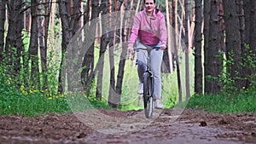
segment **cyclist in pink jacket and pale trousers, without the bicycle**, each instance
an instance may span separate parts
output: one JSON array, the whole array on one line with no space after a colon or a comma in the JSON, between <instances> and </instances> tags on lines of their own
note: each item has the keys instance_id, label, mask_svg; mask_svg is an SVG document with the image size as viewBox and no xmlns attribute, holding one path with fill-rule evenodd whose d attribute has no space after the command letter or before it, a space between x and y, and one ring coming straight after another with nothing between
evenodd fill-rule
<instances>
[{"instance_id":1,"label":"cyclist in pink jacket and pale trousers, without the bicycle","mask_svg":"<svg viewBox=\"0 0 256 144\"><path fill-rule=\"evenodd\" d=\"M154 99L155 108L163 108L161 101L161 77L160 67L163 58L163 49L166 49L167 31L165 15L155 9L155 0L144 0L144 10L137 13L131 29L131 37L128 51L131 55L135 54L133 45L137 48L144 48L148 45L153 49L150 55L150 68L154 73ZM143 94L143 72L146 71L147 52L137 51L137 72L139 77L138 94Z\"/></svg>"}]
</instances>

